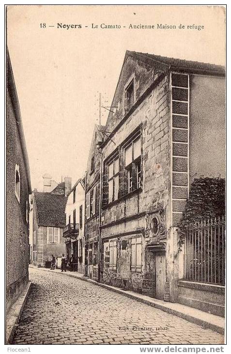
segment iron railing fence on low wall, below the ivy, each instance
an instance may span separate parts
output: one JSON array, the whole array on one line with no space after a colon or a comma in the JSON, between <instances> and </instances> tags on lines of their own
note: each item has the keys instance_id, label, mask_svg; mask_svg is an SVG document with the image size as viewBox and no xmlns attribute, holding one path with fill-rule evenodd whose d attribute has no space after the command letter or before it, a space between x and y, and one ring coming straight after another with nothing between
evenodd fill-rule
<instances>
[{"instance_id":1,"label":"iron railing fence on low wall, below the ivy","mask_svg":"<svg viewBox=\"0 0 231 354\"><path fill-rule=\"evenodd\" d=\"M225 284L225 219L198 221L185 235L185 279Z\"/></svg>"}]
</instances>

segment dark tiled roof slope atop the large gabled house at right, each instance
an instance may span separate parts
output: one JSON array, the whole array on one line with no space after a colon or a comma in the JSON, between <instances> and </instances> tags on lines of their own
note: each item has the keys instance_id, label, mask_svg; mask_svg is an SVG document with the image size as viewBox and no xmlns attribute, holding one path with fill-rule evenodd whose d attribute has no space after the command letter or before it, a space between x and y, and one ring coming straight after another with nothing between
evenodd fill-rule
<instances>
[{"instance_id":1,"label":"dark tiled roof slope atop the large gabled house at right","mask_svg":"<svg viewBox=\"0 0 231 354\"><path fill-rule=\"evenodd\" d=\"M126 51L125 59L131 56L137 60L144 61L150 65L160 65L172 71L188 72L203 75L225 76L225 67L222 65L193 62L190 60L162 57L160 55L140 53L136 51Z\"/></svg>"}]
</instances>

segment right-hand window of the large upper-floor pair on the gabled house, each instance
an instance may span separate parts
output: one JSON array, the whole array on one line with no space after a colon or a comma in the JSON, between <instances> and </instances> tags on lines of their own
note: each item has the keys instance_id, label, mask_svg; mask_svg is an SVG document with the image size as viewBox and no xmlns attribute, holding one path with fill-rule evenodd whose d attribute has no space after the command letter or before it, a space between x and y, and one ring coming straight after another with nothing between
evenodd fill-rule
<instances>
[{"instance_id":1,"label":"right-hand window of the large upper-floor pair on the gabled house","mask_svg":"<svg viewBox=\"0 0 231 354\"><path fill-rule=\"evenodd\" d=\"M136 138L125 148L128 193L141 187L141 139Z\"/></svg>"}]
</instances>

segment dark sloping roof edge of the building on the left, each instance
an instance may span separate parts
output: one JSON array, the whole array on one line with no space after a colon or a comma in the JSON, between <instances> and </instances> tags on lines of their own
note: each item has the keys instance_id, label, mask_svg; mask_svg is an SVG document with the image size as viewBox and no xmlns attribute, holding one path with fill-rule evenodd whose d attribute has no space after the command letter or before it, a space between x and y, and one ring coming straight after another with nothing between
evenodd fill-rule
<instances>
[{"instance_id":1,"label":"dark sloping roof edge of the building on the left","mask_svg":"<svg viewBox=\"0 0 231 354\"><path fill-rule=\"evenodd\" d=\"M29 192L29 194L31 194L30 165L29 165L26 141L25 141L24 132L23 132L22 118L21 118L20 107L19 107L19 102L18 102L18 97L17 97L16 86L15 86L15 79L14 79L14 74L13 74L13 70L12 70L12 66L11 66L8 48L6 49L6 56L7 56L7 62L6 62L7 63L6 64L7 65L7 87L9 90L10 97L11 97L12 106L13 106L14 112L15 112L15 119L16 119L16 123L17 123L16 126L17 126L17 130L18 130L18 134L19 134L19 139L20 139L22 154L23 154L23 160L24 160L25 168L26 168L28 192Z\"/></svg>"}]
</instances>

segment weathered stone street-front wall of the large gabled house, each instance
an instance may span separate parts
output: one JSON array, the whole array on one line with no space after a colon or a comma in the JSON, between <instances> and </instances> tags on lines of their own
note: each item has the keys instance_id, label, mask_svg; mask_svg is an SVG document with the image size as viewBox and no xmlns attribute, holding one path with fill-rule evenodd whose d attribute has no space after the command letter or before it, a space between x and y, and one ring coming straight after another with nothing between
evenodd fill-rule
<instances>
[{"instance_id":1,"label":"weathered stone street-front wall of the large gabled house","mask_svg":"<svg viewBox=\"0 0 231 354\"><path fill-rule=\"evenodd\" d=\"M133 61L131 58L127 59L122 71L125 73L125 78L121 76L123 83L118 84L119 92L115 94L118 100L119 97L123 96L124 82L129 77L133 77L135 82L134 96L136 99L140 97L141 92L145 92L150 84L150 80L146 80L145 83L140 78L139 75L143 70L145 70L144 67L139 67L138 62ZM149 74L152 80L157 79L156 72L150 71ZM142 88L139 88L141 81ZM117 102L113 105L116 106ZM123 101L119 103L119 107L121 105L123 105ZM111 120L107 123L109 127L107 129L115 128L116 124L120 123L121 118L119 117L119 113L118 115L114 114ZM123 144L127 136L136 131L136 129L140 129L141 133L142 187L111 202L102 209L102 239L104 242L110 239L116 239L118 242L117 270L109 269L104 264L103 281L107 284L155 296L155 257L154 253L147 246L159 239L158 237L154 237L150 225L147 233L145 232L147 228L145 215L149 215L150 223L155 214L161 219L164 228L161 231L161 242L167 247L168 242L170 242L167 232L170 227L170 113L168 76L162 76L162 79L157 82L156 87L143 99L135 111L127 117L123 125L115 129L111 137L115 145L111 141L108 141L104 146L104 161L107 161L108 156L113 154L117 146ZM141 272L132 272L130 244L131 239L135 237L134 233L138 237L139 232L142 235ZM128 242L126 250L121 250L120 248L123 240L127 240ZM169 257L169 254L166 257ZM105 260L105 255L103 258ZM167 279L165 280L167 281ZM166 287L166 290L168 290L168 287Z\"/></svg>"}]
</instances>

